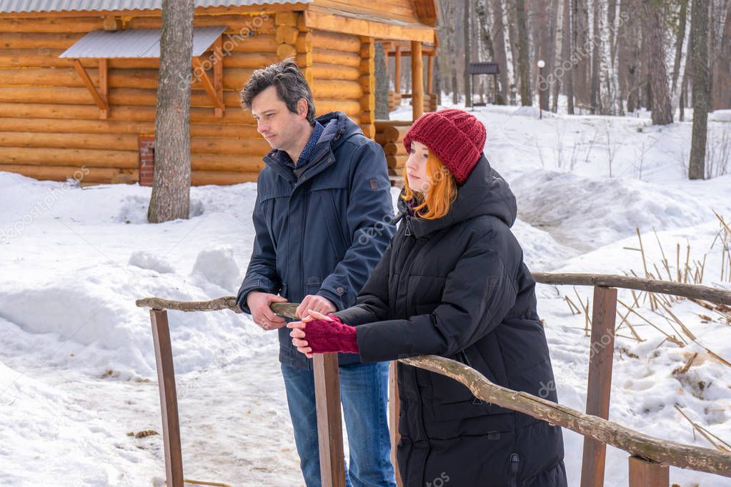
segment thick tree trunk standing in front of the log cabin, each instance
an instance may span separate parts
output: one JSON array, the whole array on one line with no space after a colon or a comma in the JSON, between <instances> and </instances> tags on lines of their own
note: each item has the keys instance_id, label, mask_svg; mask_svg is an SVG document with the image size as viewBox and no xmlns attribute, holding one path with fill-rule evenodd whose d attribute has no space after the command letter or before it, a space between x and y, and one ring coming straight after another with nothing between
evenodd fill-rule
<instances>
[{"instance_id":1,"label":"thick tree trunk standing in front of the log cabin","mask_svg":"<svg viewBox=\"0 0 731 487\"><path fill-rule=\"evenodd\" d=\"M162 1L150 223L189 218L193 0Z\"/></svg>"}]
</instances>

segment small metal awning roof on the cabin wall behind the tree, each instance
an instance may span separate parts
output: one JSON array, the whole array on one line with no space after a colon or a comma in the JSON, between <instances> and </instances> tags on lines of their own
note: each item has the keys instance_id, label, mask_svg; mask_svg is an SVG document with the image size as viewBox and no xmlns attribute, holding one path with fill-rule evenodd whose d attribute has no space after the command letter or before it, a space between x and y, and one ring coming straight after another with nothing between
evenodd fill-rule
<instances>
[{"instance_id":1,"label":"small metal awning roof on the cabin wall behind the tree","mask_svg":"<svg viewBox=\"0 0 731 487\"><path fill-rule=\"evenodd\" d=\"M205 53L226 26L194 27L193 56ZM160 29L133 28L124 31L91 31L77 40L59 58L159 58Z\"/></svg>"}]
</instances>

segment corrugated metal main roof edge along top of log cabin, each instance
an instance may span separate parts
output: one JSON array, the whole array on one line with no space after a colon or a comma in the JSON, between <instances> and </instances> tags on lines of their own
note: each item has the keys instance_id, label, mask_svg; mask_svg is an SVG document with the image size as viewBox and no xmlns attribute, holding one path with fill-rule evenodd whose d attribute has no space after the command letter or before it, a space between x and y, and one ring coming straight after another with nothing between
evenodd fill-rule
<instances>
[{"instance_id":1,"label":"corrugated metal main roof edge along top of log cabin","mask_svg":"<svg viewBox=\"0 0 731 487\"><path fill-rule=\"evenodd\" d=\"M312 0L194 0L196 7L308 4ZM0 0L0 13L162 9L162 0Z\"/></svg>"}]
</instances>

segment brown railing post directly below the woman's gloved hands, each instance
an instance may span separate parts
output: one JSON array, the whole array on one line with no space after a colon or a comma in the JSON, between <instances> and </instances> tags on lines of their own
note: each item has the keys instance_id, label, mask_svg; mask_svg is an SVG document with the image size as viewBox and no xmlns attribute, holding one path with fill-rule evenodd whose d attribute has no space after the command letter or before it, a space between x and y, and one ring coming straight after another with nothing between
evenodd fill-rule
<instances>
[{"instance_id":1,"label":"brown railing post directly below the woman's gloved hands","mask_svg":"<svg viewBox=\"0 0 731 487\"><path fill-rule=\"evenodd\" d=\"M345 487L338 354L315 353L313 361L322 487Z\"/></svg>"}]
</instances>

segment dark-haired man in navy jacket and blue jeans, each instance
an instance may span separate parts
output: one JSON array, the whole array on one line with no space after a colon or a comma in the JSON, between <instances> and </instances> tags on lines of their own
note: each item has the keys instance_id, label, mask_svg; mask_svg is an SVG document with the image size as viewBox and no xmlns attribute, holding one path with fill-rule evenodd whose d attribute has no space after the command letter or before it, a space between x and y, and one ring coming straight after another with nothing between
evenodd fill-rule
<instances>
[{"instance_id":1,"label":"dark-haired man in navy jacket and blue jeans","mask_svg":"<svg viewBox=\"0 0 731 487\"><path fill-rule=\"evenodd\" d=\"M355 304L394 233L383 150L342 112L315 119L312 93L294 61L257 69L241 91L272 150L257 182L254 250L238 305L262 329L279 330L279 361L308 487L319 487L312 361L292 347L273 302L297 315ZM395 486L387 428L387 363L341 353L341 401L349 440L346 485Z\"/></svg>"}]
</instances>

